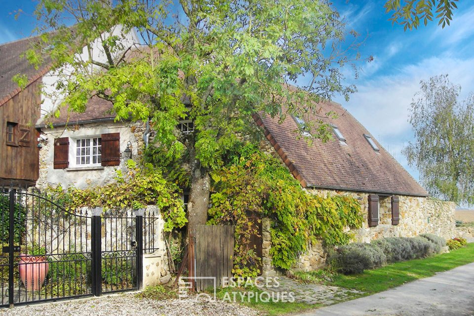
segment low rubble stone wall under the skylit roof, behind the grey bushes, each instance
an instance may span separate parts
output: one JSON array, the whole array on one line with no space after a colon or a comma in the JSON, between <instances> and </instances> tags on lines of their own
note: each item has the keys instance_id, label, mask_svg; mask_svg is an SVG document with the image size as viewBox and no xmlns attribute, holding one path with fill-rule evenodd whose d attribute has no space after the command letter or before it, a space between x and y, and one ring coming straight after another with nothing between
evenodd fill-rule
<instances>
[{"instance_id":1,"label":"low rubble stone wall under the skylit roof, behind the grey bushes","mask_svg":"<svg viewBox=\"0 0 474 316\"><path fill-rule=\"evenodd\" d=\"M354 233L355 242L370 242L383 237L414 237L424 233L432 233L444 238L460 236L455 229L455 204L452 202L439 201L429 197L399 196L400 222L398 225L392 225L391 197L380 197L379 225L369 227L367 193L316 189L309 189L308 192L320 196L348 195L359 201L364 220L362 227L352 232ZM270 223L265 225L268 226L267 229L269 230ZM277 271L271 266L269 255L271 239L266 238L265 226L263 231L264 274L271 275L277 273ZM294 266L295 271L316 270L325 265L327 252L322 243L317 242L309 245L308 248L309 250L306 253L300 255Z\"/></svg>"}]
</instances>

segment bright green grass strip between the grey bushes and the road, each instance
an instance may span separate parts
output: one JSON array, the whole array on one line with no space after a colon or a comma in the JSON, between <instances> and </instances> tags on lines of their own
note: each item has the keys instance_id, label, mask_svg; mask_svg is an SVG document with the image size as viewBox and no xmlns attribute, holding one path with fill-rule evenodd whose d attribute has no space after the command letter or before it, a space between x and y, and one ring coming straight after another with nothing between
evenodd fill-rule
<instances>
[{"instance_id":1,"label":"bright green grass strip between the grey bushes and the road","mask_svg":"<svg viewBox=\"0 0 474 316\"><path fill-rule=\"evenodd\" d=\"M474 243L450 253L397 262L379 269L366 270L359 275L336 275L327 284L356 289L365 292L364 295L370 295L471 262L474 262Z\"/></svg>"}]
</instances>

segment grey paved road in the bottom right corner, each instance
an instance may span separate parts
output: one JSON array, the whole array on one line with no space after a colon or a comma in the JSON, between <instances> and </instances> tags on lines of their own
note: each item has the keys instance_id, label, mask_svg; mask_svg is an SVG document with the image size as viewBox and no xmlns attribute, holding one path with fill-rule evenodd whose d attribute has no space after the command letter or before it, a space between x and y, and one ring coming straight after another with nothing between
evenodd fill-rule
<instances>
[{"instance_id":1,"label":"grey paved road in the bottom right corner","mask_svg":"<svg viewBox=\"0 0 474 316\"><path fill-rule=\"evenodd\" d=\"M304 316L474 316L474 263Z\"/></svg>"}]
</instances>

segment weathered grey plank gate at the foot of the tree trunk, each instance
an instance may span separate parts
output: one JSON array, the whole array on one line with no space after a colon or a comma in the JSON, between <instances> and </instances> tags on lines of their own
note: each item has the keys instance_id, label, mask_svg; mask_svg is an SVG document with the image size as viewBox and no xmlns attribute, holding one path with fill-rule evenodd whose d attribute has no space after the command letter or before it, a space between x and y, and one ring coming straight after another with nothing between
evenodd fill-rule
<instances>
[{"instance_id":1,"label":"weathered grey plank gate at the foot of the tree trunk","mask_svg":"<svg viewBox=\"0 0 474 316\"><path fill-rule=\"evenodd\" d=\"M197 225L194 233L194 256L190 259L191 265L195 262L198 291L213 286L221 287L223 277L232 277L234 231L234 226L230 225Z\"/></svg>"}]
</instances>

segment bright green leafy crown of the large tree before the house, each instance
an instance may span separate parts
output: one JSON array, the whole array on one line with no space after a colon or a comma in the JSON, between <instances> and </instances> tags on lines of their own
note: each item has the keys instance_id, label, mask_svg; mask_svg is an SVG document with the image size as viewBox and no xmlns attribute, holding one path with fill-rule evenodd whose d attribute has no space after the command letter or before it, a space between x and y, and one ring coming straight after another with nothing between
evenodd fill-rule
<instances>
[{"instance_id":1,"label":"bright green leafy crown of the large tree before the house","mask_svg":"<svg viewBox=\"0 0 474 316\"><path fill-rule=\"evenodd\" d=\"M225 164L239 135L258 132L252 114L324 116L318 101L356 91L344 84L342 68L360 58L359 43L344 43L344 19L328 1L180 1L179 16L176 4L39 0L40 42L25 56L35 65L50 60L58 80L49 97L69 111L84 112L97 96L112 102L116 120L150 120L152 145L181 155L191 172L202 168L203 177ZM111 32L118 25L121 32ZM129 38L135 30L139 51ZM96 39L101 54L90 53ZM85 58L76 54L84 46ZM301 77L311 83L288 89ZM176 128L182 119L193 121L192 133ZM328 139L327 124L309 124ZM183 170L173 170L184 182Z\"/></svg>"}]
</instances>

